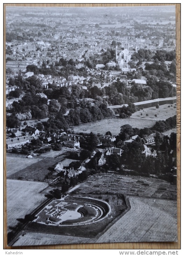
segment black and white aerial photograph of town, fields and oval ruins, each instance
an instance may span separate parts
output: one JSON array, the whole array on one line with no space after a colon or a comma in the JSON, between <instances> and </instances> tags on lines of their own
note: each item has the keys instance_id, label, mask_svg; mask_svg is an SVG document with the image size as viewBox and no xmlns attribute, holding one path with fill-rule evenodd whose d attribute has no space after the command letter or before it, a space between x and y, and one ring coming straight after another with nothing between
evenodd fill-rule
<instances>
[{"instance_id":1,"label":"black and white aerial photograph of town, fields and oval ruins","mask_svg":"<svg viewBox=\"0 0 184 256\"><path fill-rule=\"evenodd\" d=\"M7 244L176 242L175 6L6 7Z\"/></svg>"}]
</instances>

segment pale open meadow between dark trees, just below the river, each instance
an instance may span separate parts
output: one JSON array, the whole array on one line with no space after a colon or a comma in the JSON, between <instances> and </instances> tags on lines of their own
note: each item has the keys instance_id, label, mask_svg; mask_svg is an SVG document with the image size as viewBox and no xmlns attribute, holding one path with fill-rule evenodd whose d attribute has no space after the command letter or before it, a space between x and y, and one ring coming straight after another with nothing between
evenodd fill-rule
<instances>
[{"instance_id":1,"label":"pale open meadow between dark trees, just below the river","mask_svg":"<svg viewBox=\"0 0 184 256\"><path fill-rule=\"evenodd\" d=\"M120 119L113 116L100 121L81 124L79 126L74 126L73 130L76 133L93 132L95 134L104 134L107 131L110 131L112 134L118 135L120 133L121 126L124 124L130 124L133 128L139 129L144 127L150 128L154 126L156 121L166 120L167 118L176 115L176 108L174 108L174 104L170 108L168 108L168 105L169 104L162 105L158 109L156 109L156 107L146 108L133 113L131 117L126 119ZM146 114L148 114L148 116L146 116ZM155 117L155 114L157 117Z\"/></svg>"}]
</instances>

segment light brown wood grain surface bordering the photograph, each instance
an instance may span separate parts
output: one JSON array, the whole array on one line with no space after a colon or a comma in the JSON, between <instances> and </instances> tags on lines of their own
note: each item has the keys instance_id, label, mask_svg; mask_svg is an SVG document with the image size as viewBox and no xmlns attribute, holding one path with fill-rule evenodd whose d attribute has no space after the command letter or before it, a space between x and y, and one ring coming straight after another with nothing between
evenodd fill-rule
<instances>
[{"instance_id":1,"label":"light brown wood grain surface bordering the photograph","mask_svg":"<svg viewBox=\"0 0 184 256\"><path fill-rule=\"evenodd\" d=\"M177 76L177 217L178 241L165 243L99 243L99 244L69 244L69 245L43 245L29 247L7 246L7 211L6 211L6 57L5 57L5 24L6 6L31 6L31 7L112 7L112 6L176 6L176 76ZM180 249L181 248L181 4L3 4L3 248L4 249Z\"/></svg>"}]
</instances>

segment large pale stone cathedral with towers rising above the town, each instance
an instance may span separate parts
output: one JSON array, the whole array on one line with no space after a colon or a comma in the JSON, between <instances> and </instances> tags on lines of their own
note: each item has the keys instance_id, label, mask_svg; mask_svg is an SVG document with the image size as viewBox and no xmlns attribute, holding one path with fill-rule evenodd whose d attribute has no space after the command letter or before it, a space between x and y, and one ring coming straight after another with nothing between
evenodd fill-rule
<instances>
[{"instance_id":1,"label":"large pale stone cathedral with towers rising above the town","mask_svg":"<svg viewBox=\"0 0 184 256\"><path fill-rule=\"evenodd\" d=\"M129 43L124 43L120 47L116 46L116 63L120 68L128 67L132 55L137 53L137 46L130 48Z\"/></svg>"}]
</instances>

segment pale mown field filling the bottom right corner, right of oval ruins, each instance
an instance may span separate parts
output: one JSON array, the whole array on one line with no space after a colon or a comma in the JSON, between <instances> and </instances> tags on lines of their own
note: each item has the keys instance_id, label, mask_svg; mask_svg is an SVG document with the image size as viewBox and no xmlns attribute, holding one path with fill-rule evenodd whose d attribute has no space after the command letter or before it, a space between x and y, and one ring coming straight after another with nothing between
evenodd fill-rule
<instances>
[{"instance_id":1,"label":"pale mown field filling the bottom right corner, right of oval ruins","mask_svg":"<svg viewBox=\"0 0 184 256\"><path fill-rule=\"evenodd\" d=\"M130 197L130 210L97 243L177 241L176 201Z\"/></svg>"}]
</instances>

